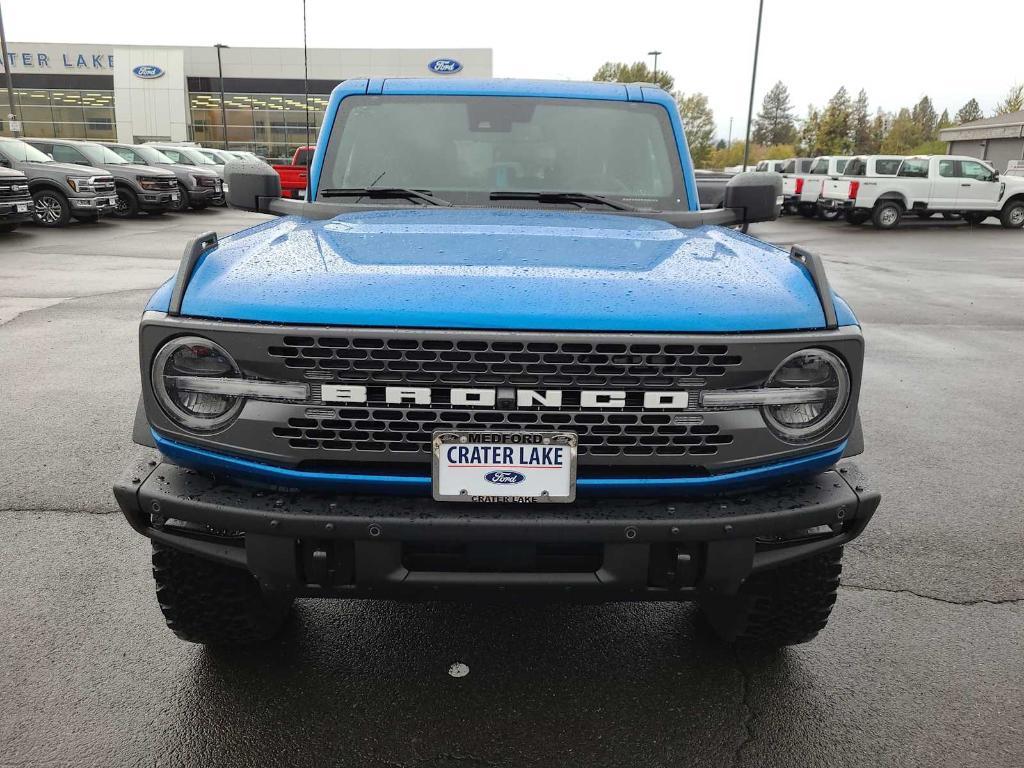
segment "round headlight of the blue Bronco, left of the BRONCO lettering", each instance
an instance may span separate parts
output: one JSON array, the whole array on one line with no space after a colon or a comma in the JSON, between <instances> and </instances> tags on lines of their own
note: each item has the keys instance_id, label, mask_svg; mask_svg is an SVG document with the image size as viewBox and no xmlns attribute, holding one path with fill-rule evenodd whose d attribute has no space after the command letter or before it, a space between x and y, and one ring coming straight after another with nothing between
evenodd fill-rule
<instances>
[{"instance_id":1,"label":"round headlight of the blue Bronco, left of the BRONCO lettering","mask_svg":"<svg viewBox=\"0 0 1024 768\"><path fill-rule=\"evenodd\" d=\"M153 360L153 389L164 412L197 432L223 427L239 415L243 398L202 391L203 378L241 379L242 373L219 344L199 336L182 336L160 348Z\"/></svg>"}]
</instances>

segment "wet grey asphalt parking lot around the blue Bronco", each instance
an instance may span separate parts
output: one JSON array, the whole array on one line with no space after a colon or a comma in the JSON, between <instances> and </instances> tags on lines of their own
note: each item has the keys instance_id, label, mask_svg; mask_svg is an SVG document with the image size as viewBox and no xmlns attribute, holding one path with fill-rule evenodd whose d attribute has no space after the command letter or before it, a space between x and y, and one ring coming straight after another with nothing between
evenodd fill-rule
<instances>
[{"instance_id":1,"label":"wet grey asphalt parking lot around the blue Bronco","mask_svg":"<svg viewBox=\"0 0 1024 768\"><path fill-rule=\"evenodd\" d=\"M304 601L221 655L165 629L111 483L150 292L262 218L0 239L0 766L1024 764L1024 233L754 227L825 257L868 345L883 505L813 643L740 655L688 605Z\"/></svg>"}]
</instances>

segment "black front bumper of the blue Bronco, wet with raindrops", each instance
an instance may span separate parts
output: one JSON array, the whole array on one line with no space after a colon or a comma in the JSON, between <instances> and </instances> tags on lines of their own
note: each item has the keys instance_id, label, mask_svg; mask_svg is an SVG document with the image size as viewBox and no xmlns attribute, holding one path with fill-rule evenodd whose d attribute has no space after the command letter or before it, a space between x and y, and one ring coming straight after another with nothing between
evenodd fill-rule
<instances>
[{"instance_id":1,"label":"black front bumper of the blue Bronco, wet with raindrops","mask_svg":"<svg viewBox=\"0 0 1024 768\"><path fill-rule=\"evenodd\" d=\"M852 462L745 495L517 507L218 481L142 452L114 487L138 532L321 597L731 594L857 537L878 508Z\"/></svg>"}]
</instances>

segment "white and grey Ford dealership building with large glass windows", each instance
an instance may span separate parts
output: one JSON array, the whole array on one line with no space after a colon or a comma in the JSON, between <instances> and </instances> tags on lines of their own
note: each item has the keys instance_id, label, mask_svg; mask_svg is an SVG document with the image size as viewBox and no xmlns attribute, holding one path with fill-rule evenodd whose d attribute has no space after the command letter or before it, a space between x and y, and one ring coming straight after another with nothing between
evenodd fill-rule
<instances>
[{"instance_id":1,"label":"white and grey Ford dealership building with large glass windows","mask_svg":"<svg viewBox=\"0 0 1024 768\"><path fill-rule=\"evenodd\" d=\"M290 157L306 143L301 48L220 49L229 147ZM14 109L0 87L0 135L223 146L217 50L208 47L7 45ZM328 95L348 78L490 77L489 48L310 48L315 141Z\"/></svg>"}]
</instances>

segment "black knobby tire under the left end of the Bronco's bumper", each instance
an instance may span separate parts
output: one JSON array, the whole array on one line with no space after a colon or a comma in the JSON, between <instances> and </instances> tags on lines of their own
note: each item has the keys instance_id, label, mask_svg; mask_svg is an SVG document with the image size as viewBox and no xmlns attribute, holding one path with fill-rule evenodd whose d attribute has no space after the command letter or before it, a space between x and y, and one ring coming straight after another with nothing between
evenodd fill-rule
<instances>
[{"instance_id":1,"label":"black knobby tire under the left end of the Bronco's bumper","mask_svg":"<svg viewBox=\"0 0 1024 768\"><path fill-rule=\"evenodd\" d=\"M284 627L292 598L264 591L243 568L153 542L153 578L167 626L205 645L256 645Z\"/></svg>"}]
</instances>

